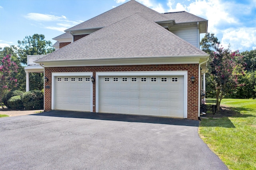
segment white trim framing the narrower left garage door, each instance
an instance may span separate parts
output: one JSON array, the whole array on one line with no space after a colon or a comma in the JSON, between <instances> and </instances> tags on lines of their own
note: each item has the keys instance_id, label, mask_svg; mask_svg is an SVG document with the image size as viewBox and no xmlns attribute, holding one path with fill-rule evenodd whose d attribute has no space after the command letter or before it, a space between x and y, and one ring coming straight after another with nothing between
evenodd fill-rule
<instances>
[{"instance_id":1,"label":"white trim framing the narrower left garage door","mask_svg":"<svg viewBox=\"0 0 256 170\"><path fill-rule=\"evenodd\" d=\"M92 72L52 72L52 107L51 109L54 110L54 82L55 82L55 77L56 76L90 76L92 77ZM91 83L91 92L90 92L90 97L91 97L91 112L93 111L92 107L92 83Z\"/></svg>"}]
</instances>

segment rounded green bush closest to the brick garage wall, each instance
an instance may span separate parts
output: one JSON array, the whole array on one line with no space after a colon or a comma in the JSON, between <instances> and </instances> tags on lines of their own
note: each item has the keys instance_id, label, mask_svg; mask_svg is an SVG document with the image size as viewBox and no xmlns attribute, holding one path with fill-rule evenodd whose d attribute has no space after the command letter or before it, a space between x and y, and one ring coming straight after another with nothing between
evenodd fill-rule
<instances>
[{"instance_id":1,"label":"rounded green bush closest to the brick garage wall","mask_svg":"<svg viewBox=\"0 0 256 170\"><path fill-rule=\"evenodd\" d=\"M21 100L26 110L44 108L44 93L40 90L25 92L22 94Z\"/></svg>"}]
</instances>

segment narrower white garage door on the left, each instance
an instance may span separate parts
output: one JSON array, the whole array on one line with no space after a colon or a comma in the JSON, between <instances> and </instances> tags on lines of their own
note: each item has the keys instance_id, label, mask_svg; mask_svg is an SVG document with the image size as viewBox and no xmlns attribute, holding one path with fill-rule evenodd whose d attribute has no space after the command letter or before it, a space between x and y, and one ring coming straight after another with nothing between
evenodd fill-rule
<instances>
[{"instance_id":1,"label":"narrower white garage door on the left","mask_svg":"<svg viewBox=\"0 0 256 170\"><path fill-rule=\"evenodd\" d=\"M90 76L54 76L54 109L91 111Z\"/></svg>"}]
</instances>

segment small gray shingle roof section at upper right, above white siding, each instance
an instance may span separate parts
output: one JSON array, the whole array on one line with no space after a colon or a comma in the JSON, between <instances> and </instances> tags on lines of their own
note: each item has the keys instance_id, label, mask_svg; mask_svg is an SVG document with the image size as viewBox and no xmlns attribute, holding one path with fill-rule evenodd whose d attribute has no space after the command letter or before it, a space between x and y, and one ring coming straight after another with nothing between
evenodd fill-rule
<instances>
[{"instance_id":1,"label":"small gray shingle roof section at upper right, above white siding","mask_svg":"<svg viewBox=\"0 0 256 170\"><path fill-rule=\"evenodd\" d=\"M207 21L204 18L195 16L186 11L168 12L164 13L163 16L165 16L169 20L175 20L175 23Z\"/></svg>"}]
</instances>

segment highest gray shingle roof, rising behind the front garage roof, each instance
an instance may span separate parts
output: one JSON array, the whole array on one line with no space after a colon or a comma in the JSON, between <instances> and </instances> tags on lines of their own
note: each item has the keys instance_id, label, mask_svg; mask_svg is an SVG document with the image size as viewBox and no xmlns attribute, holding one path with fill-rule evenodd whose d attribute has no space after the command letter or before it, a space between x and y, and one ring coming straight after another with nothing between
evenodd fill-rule
<instances>
[{"instance_id":1,"label":"highest gray shingle roof, rising behind the front garage roof","mask_svg":"<svg viewBox=\"0 0 256 170\"><path fill-rule=\"evenodd\" d=\"M84 21L83 23L80 23L65 31L73 31L94 27L105 27L138 12L144 14L146 18L152 21L168 20L168 18L165 18L164 15L136 2L135 0L130 0L125 4L122 4L107 12L104 12L103 14L100 14L90 20Z\"/></svg>"}]
</instances>

